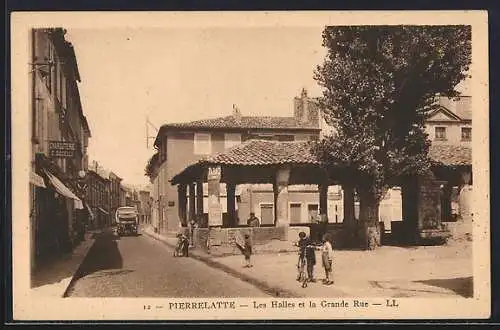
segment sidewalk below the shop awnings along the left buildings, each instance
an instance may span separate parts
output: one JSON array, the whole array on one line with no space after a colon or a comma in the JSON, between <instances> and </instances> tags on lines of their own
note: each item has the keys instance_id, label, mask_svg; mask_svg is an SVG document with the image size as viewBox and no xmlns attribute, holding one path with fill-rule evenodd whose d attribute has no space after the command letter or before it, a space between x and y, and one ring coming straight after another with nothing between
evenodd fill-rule
<instances>
[{"instance_id":1,"label":"sidewalk below the shop awnings along the left buildings","mask_svg":"<svg viewBox=\"0 0 500 330\"><path fill-rule=\"evenodd\" d=\"M31 278L32 293L40 297L63 297L73 275L94 244L100 230L89 231L85 240L71 252L36 270Z\"/></svg>"}]
</instances>

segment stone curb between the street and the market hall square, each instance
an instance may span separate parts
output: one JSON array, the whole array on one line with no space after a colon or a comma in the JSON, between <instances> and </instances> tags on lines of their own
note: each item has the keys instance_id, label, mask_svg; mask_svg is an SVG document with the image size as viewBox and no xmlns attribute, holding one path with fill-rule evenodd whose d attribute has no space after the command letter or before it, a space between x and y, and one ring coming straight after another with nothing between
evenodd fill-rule
<instances>
[{"instance_id":1,"label":"stone curb between the street and the market hall square","mask_svg":"<svg viewBox=\"0 0 500 330\"><path fill-rule=\"evenodd\" d=\"M156 239L157 241L162 242L163 244L165 244L171 248L175 248L174 244L168 242L165 239L158 237L157 235L155 235L153 233L149 233L146 230L144 230L143 233L148 235L149 237ZM271 286L265 281L256 279L253 276L249 276L248 274L239 272L239 271L235 270L234 268L231 268L229 266L226 266L220 262L213 260L210 257L200 255L196 251L190 251L189 256L192 257L193 259L196 259L198 261L201 261L201 262L207 264L210 267L223 270L224 272L231 274L234 277L237 277L237 278L239 278L247 283L250 283L250 284L256 286L257 288L259 288L260 290L262 290L262 291L264 291L264 292L266 292L274 297L280 297L280 298L306 298L307 297L306 295L300 295L300 294L297 294L296 292L293 292L293 291L290 291L290 290L287 290L284 288Z\"/></svg>"}]
</instances>

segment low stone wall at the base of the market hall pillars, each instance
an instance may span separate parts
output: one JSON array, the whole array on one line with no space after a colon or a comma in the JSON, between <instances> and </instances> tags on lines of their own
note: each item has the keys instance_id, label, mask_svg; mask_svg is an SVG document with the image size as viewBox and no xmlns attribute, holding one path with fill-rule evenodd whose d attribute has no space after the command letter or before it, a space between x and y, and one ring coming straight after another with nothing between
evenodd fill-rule
<instances>
[{"instance_id":1,"label":"low stone wall at the base of the market hall pillars","mask_svg":"<svg viewBox=\"0 0 500 330\"><path fill-rule=\"evenodd\" d=\"M253 253L276 253L296 251L293 245L299 232L309 235L308 227L241 227L241 228L196 228L193 232L193 245L213 256L239 255L236 240L250 235Z\"/></svg>"}]
</instances>

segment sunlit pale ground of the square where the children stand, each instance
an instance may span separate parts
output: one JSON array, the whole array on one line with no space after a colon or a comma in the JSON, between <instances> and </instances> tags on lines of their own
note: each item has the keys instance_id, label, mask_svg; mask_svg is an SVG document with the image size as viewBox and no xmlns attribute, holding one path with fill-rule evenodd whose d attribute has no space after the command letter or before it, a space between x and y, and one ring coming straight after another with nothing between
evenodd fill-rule
<instances>
[{"instance_id":1,"label":"sunlit pale ground of the square where the children stand","mask_svg":"<svg viewBox=\"0 0 500 330\"><path fill-rule=\"evenodd\" d=\"M145 228L144 233L174 247ZM296 278L296 253L256 254L253 268L243 268L242 256L212 257L191 250L190 257L222 269L281 297L469 297L472 294L470 242L449 246L394 247L375 251L335 251L335 284L325 286L321 258L315 267L317 283L301 288Z\"/></svg>"}]
</instances>

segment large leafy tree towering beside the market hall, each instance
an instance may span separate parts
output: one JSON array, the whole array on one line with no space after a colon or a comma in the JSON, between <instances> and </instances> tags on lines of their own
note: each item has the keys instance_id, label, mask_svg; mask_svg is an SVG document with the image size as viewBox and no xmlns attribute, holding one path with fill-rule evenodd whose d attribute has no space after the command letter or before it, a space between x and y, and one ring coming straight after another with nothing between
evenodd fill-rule
<instances>
[{"instance_id":1,"label":"large leafy tree towering beside the market hall","mask_svg":"<svg viewBox=\"0 0 500 330\"><path fill-rule=\"evenodd\" d=\"M470 26L328 26L315 79L334 134L314 151L356 187L364 243L373 248L380 200L430 167L424 125L435 96L456 97L471 63Z\"/></svg>"}]
</instances>

